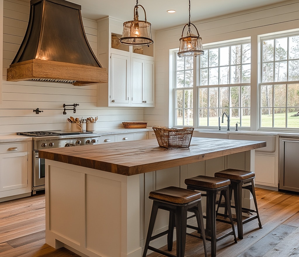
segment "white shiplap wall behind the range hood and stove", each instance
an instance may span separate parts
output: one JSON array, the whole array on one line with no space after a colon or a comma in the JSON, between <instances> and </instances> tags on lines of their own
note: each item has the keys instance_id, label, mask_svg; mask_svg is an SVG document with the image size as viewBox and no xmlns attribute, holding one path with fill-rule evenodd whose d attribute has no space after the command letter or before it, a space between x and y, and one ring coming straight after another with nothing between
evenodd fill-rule
<instances>
[{"instance_id":1,"label":"white shiplap wall behind the range hood and stove","mask_svg":"<svg viewBox=\"0 0 299 257\"><path fill-rule=\"evenodd\" d=\"M1 0L2 1L2 0ZM143 121L143 108L96 107L97 86L76 87L65 83L6 81L11 64L26 32L30 4L28 1L4 0L3 11L3 88L0 103L0 135L20 131L67 130L69 116L98 116L97 129L123 127L122 121ZM89 44L97 56L97 22L84 19ZM1 98L1 97L0 97ZM63 115L63 104L80 104L77 112ZM33 109L43 110L39 115ZM70 107L71 108L71 107Z\"/></svg>"}]
</instances>

